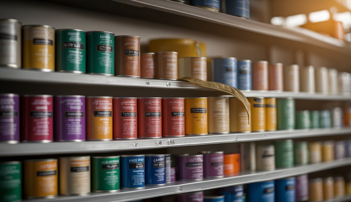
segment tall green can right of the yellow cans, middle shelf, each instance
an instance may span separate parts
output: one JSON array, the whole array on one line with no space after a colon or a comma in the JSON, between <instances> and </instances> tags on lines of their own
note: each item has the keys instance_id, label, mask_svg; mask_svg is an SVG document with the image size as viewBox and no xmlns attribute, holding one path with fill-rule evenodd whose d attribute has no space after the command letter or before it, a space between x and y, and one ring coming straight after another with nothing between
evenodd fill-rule
<instances>
[{"instance_id":1,"label":"tall green can right of the yellow cans, middle shelf","mask_svg":"<svg viewBox=\"0 0 351 202\"><path fill-rule=\"evenodd\" d=\"M295 129L295 100L277 99L277 130Z\"/></svg>"}]
</instances>

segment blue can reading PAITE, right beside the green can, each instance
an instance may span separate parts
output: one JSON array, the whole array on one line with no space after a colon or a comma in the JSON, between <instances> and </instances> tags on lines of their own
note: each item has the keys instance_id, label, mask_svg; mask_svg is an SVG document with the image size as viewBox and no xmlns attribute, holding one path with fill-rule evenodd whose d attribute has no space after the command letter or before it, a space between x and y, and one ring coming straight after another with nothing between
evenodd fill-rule
<instances>
[{"instance_id":1,"label":"blue can reading PAITE, right beside the green can","mask_svg":"<svg viewBox=\"0 0 351 202\"><path fill-rule=\"evenodd\" d=\"M121 189L145 187L145 155L121 155Z\"/></svg>"}]
</instances>

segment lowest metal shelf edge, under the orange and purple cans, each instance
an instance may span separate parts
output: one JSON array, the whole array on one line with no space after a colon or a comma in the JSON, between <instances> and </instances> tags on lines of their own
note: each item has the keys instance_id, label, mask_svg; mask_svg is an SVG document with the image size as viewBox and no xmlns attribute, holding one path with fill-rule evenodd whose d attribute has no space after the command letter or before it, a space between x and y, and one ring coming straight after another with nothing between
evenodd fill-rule
<instances>
[{"instance_id":1,"label":"lowest metal shelf edge, under the orange and purple cans","mask_svg":"<svg viewBox=\"0 0 351 202\"><path fill-rule=\"evenodd\" d=\"M131 200L139 200L156 196L164 196L170 194L178 194L191 191L201 191L207 189L216 189L227 186L235 186L239 184L247 184L253 182L262 182L276 180L290 176L302 175L321 170L327 170L342 166L351 165L351 158L335 160L331 162L322 162L309 164L305 166L297 166L292 168L284 168L273 171L263 172L242 172L237 176L226 176L221 179L205 179L203 181L177 181L163 187L150 186L141 190L121 190L119 193L92 193L86 196L59 196L53 199L35 200L38 202L49 201L65 201L65 202L124 202ZM28 202L34 200L28 200Z\"/></svg>"}]
</instances>

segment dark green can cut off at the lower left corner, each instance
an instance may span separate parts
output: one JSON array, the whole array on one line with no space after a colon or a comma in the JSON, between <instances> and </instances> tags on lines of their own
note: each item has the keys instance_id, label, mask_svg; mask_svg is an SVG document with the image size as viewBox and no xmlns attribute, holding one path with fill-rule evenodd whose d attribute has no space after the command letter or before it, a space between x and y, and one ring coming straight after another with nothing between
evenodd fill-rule
<instances>
[{"instance_id":1,"label":"dark green can cut off at the lower left corner","mask_svg":"<svg viewBox=\"0 0 351 202\"><path fill-rule=\"evenodd\" d=\"M22 163L0 162L0 201L21 201Z\"/></svg>"}]
</instances>

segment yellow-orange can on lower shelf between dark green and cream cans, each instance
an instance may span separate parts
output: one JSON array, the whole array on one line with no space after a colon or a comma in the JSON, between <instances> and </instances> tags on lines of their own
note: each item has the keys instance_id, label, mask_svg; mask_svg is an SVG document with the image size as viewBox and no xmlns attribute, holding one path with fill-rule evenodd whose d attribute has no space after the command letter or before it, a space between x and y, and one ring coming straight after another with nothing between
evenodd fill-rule
<instances>
[{"instance_id":1,"label":"yellow-orange can on lower shelf between dark green and cream cans","mask_svg":"<svg viewBox=\"0 0 351 202\"><path fill-rule=\"evenodd\" d=\"M25 160L23 170L24 198L53 198L58 195L57 159Z\"/></svg>"}]
</instances>

